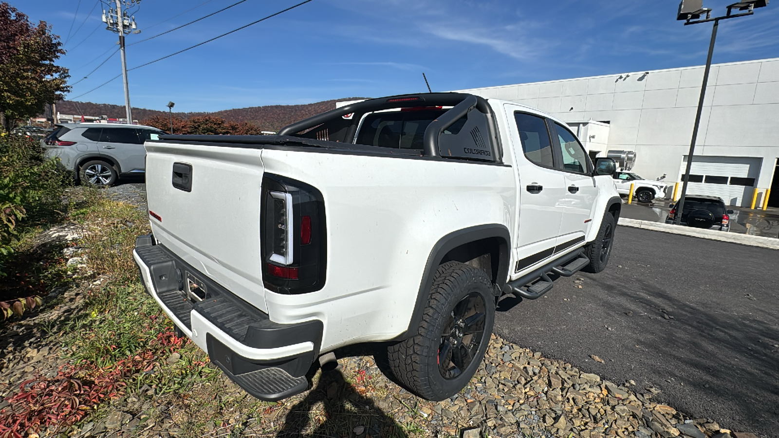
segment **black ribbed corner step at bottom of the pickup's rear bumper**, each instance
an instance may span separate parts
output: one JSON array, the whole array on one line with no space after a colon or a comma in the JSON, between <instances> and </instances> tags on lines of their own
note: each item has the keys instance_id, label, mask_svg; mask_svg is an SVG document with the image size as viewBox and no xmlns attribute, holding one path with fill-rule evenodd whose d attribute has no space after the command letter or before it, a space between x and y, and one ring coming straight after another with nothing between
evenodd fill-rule
<instances>
[{"instance_id":1,"label":"black ribbed corner step at bottom of the pickup's rear bumper","mask_svg":"<svg viewBox=\"0 0 779 438\"><path fill-rule=\"evenodd\" d=\"M223 367L220 368L239 387L259 400L279 401L308 390L305 376L293 377L284 369L265 368L234 376Z\"/></svg>"}]
</instances>

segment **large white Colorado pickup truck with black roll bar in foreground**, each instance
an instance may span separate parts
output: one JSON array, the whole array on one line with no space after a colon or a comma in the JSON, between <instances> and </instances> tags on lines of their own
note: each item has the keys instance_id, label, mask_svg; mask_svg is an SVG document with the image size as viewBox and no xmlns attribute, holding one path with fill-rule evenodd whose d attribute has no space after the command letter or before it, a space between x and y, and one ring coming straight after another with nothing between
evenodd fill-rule
<instances>
[{"instance_id":1,"label":"large white Colorado pickup truck with black roll bar in foreground","mask_svg":"<svg viewBox=\"0 0 779 438\"><path fill-rule=\"evenodd\" d=\"M278 136L146 142L146 290L249 394L308 388L317 358L386 345L429 400L456 394L502 295L608 262L621 201L563 122L509 101L410 94Z\"/></svg>"}]
</instances>

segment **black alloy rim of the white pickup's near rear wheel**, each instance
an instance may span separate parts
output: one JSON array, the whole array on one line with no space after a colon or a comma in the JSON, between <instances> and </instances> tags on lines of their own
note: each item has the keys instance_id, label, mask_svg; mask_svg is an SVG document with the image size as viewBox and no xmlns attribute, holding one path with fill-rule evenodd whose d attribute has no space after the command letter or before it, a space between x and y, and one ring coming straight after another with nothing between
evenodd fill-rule
<instances>
[{"instance_id":1,"label":"black alloy rim of the white pickup's near rear wheel","mask_svg":"<svg viewBox=\"0 0 779 438\"><path fill-rule=\"evenodd\" d=\"M476 292L466 295L454 307L441 336L439 372L452 380L474 361L485 331L486 306Z\"/></svg>"}]
</instances>

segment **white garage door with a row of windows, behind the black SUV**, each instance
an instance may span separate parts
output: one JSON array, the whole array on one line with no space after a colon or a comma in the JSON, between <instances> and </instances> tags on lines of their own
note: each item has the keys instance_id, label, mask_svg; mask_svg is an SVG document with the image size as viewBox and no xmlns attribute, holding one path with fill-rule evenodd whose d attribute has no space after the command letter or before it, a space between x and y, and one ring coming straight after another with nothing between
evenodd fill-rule
<instances>
[{"instance_id":1,"label":"white garage door with a row of windows, behind the black SUV","mask_svg":"<svg viewBox=\"0 0 779 438\"><path fill-rule=\"evenodd\" d=\"M696 156L689 174L687 193L719 196L727 205L744 206L752 200L762 161L762 158L756 157ZM686 166L687 156L682 160L679 175L684 175Z\"/></svg>"}]
</instances>

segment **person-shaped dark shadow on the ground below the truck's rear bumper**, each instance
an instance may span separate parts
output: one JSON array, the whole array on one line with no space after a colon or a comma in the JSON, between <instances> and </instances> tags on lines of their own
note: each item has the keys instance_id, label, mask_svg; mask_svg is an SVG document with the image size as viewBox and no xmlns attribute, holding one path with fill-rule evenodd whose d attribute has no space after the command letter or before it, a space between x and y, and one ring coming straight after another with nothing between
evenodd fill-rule
<instances>
[{"instance_id":1,"label":"person-shaped dark shadow on the ground below the truck's rear bumper","mask_svg":"<svg viewBox=\"0 0 779 438\"><path fill-rule=\"evenodd\" d=\"M316 386L290 408L276 436L407 438L408 435L371 398L347 382L340 369L323 369Z\"/></svg>"}]
</instances>

